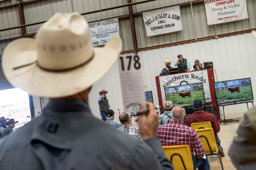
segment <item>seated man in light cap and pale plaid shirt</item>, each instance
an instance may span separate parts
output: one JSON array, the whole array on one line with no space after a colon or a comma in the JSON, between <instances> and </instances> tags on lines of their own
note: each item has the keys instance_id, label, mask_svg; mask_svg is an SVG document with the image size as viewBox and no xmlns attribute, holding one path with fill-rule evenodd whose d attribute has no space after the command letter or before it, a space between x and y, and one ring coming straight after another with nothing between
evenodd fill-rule
<instances>
[{"instance_id":1,"label":"seated man in light cap and pale plaid shirt","mask_svg":"<svg viewBox=\"0 0 256 170\"><path fill-rule=\"evenodd\" d=\"M173 102L167 100L164 102L165 112L159 116L160 125L170 123L172 121L172 109L173 109Z\"/></svg>"}]
</instances>

